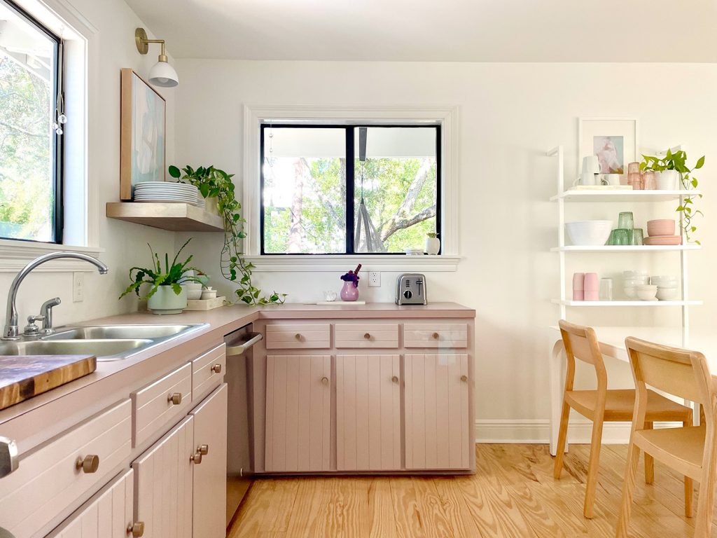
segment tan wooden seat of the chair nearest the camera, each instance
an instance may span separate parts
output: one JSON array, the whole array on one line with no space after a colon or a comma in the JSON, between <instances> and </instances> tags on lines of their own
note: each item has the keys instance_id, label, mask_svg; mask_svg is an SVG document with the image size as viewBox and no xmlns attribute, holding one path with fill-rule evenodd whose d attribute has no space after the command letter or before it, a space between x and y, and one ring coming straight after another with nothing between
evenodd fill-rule
<instances>
[{"instance_id":1,"label":"tan wooden seat of the chair nearest the camera","mask_svg":"<svg viewBox=\"0 0 717 538\"><path fill-rule=\"evenodd\" d=\"M699 481L702 476L705 433L704 426L637 430L633 442L657 461Z\"/></svg>"}]
</instances>

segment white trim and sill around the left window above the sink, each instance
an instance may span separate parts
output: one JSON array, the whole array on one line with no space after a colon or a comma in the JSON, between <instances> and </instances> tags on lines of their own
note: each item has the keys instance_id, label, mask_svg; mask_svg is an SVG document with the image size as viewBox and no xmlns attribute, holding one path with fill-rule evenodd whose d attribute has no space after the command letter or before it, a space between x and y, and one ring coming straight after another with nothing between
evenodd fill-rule
<instances>
[{"instance_id":1,"label":"white trim and sill around the left window above the sink","mask_svg":"<svg viewBox=\"0 0 717 538\"><path fill-rule=\"evenodd\" d=\"M66 109L70 121L82 129L68 130L65 141L65 244L0 240L0 273L22 269L39 255L50 252L80 252L97 257L100 248L100 192L91 171L98 163L91 142L98 131L99 34L98 29L67 0L15 0L19 6L58 35L65 37ZM68 62L69 60L69 62ZM74 61L74 64L70 62ZM77 65L82 69L77 69ZM69 89L68 89L69 88ZM93 91L94 90L94 91ZM95 113L90 112L94 110ZM71 154L67 153L71 148ZM79 260L54 260L40 265L44 272L92 271Z\"/></svg>"}]
</instances>

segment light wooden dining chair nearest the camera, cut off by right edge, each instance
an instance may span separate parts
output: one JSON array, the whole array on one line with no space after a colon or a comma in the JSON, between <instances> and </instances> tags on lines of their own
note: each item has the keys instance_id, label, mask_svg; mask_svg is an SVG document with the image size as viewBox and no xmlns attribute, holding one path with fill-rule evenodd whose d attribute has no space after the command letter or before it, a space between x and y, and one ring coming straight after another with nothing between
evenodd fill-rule
<instances>
[{"instance_id":1,"label":"light wooden dining chair nearest the camera, cut off by right edge","mask_svg":"<svg viewBox=\"0 0 717 538\"><path fill-rule=\"evenodd\" d=\"M685 512L688 502L691 504L692 480L700 483L695 538L707 538L711 535L717 460L715 390L707 361L697 351L660 346L632 336L625 339L625 345L630 355L637 397L616 536L627 537L637 460L642 450L645 456L650 454L689 478L685 478ZM698 402L703 410L701 425L660 430L647 428L650 393L647 385Z\"/></svg>"}]
</instances>

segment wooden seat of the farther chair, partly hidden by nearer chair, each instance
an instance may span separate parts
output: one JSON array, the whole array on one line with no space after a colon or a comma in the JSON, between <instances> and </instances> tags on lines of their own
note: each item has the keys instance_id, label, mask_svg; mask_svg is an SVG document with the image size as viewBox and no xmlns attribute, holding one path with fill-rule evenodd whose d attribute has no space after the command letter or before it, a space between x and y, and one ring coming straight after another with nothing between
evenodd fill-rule
<instances>
[{"instance_id":1,"label":"wooden seat of the farther chair, partly hidden by nearer chair","mask_svg":"<svg viewBox=\"0 0 717 538\"><path fill-rule=\"evenodd\" d=\"M571 390L565 392L570 407L592 420L597 410L597 390ZM607 390L603 420L606 422L632 422L635 411L635 390ZM689 407L673 402L654 390L647 391L647 422L679 421L692 418Z\"/></svg>"}]
</instances>

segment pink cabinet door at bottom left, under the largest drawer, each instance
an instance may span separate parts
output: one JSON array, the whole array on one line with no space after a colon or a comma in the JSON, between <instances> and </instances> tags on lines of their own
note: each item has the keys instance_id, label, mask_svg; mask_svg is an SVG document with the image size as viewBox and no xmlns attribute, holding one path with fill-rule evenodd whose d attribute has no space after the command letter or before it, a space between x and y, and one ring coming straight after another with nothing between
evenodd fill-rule
<instances>
[{"instance_id":1,"label":"pink cabinet door at bottom left, under the largest drawer","mask_svg":"<svg viewBox=\"0 0 717 538\"><path fill-rule=\"evenodd\" d=\"M126 538L132 521L133 471L126 471L80 506L47 538Z\"/></svg>"}]
</instances>

